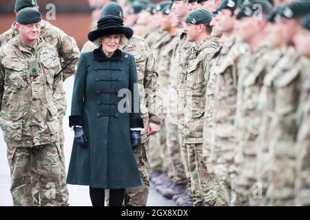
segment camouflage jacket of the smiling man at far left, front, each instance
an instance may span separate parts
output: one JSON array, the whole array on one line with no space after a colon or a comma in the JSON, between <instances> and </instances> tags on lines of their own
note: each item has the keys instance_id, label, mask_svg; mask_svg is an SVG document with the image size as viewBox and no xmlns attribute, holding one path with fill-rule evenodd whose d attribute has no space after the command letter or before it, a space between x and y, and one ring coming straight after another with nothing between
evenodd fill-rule
<instances>
[{"instance_id":1,"label":"camouflage jacket of the smiling man at far left, front","mask_svg":"<svg viewBox=\"0 0 310 220\"><path fill-rule=\"evenodd\" d=\"M6 143L32 147L59 141L54 104L60 70L54 47L38 39L34 51L19 36L0 49L0 126Z\"/></svg>"}]
</instances>

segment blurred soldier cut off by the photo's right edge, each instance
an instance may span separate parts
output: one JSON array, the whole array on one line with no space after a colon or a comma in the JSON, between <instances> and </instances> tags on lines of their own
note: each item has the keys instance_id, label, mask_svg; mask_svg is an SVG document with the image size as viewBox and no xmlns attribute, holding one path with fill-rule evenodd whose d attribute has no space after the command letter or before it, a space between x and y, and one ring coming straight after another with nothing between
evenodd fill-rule
<instances>
[{"instance_id":1,"label":"blurred soldier cut off by the photo's right edge","mask_svg":"<svg viewBox=\"0 0 310 220\"><path fill-rule=\"evenodd\" d=\"M293 37L296 52L302 58L302 71L307 71L307 80L302 85L298 107L297 167L296 167L296 206L310 206L310 14L300 23L302 28Z\"/></svg>"}]
</instances>

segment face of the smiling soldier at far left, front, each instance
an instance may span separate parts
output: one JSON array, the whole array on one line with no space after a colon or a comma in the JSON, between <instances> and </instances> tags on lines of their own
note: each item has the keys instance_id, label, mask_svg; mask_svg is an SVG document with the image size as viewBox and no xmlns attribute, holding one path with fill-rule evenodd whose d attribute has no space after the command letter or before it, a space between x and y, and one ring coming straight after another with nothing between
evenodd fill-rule
<instances>
[{"instance_id":1,"label":"face of the smiling soldier at far left, front","mask_svg":"<svg viewBox=\"0 0 310 220\"><path fill-rule=\"evenodd\" d=\"M17 29L23 41L35 41L39 38L41 32L40 23L30 23L28 25L21 25L17 23Z\"/></svg>"}]
</instances>

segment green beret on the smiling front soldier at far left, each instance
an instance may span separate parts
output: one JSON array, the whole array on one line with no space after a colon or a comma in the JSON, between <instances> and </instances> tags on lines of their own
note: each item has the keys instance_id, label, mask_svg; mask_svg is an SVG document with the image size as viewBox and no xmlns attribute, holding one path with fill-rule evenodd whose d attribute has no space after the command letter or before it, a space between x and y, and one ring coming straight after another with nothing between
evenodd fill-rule
<instances>
[{"instance_id":1,"label":"green beret on the smiling front soldier at far left","mask_svg":"<svg viewBox=\"0 0 310 220\"><path fill-rule=\"evenodd\" d=\"M41 13L34 8L23 8L17 13L16 20L22 25L28 25L30 23L39 23L41 18Z\"/></svg>"}]
</instances>

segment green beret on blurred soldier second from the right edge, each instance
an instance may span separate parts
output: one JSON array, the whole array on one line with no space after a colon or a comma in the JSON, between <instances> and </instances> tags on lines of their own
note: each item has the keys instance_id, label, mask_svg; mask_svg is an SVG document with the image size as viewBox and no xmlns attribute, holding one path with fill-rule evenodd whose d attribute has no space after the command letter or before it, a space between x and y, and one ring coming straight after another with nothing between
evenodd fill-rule
<instances>
[{"instance_id":1,"label":"green beret on blurred soldier second from the right edge","mask_svg":"<svg viewBox=\"0 0 310 220\"><path fill-rule=\"evenodd\" d=\"M285 19L293 19L310 13L310 1L296 1L282 6L279 14Z\"/></svg>"}]
</instances>

